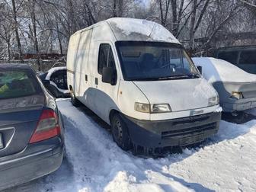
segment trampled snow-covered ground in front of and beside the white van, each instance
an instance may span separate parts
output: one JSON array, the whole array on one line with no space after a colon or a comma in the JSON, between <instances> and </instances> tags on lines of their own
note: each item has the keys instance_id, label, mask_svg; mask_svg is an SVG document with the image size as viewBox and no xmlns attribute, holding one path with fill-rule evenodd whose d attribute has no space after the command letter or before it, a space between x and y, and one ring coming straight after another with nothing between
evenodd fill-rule
<instances>
[{"instance_id":1,"label":"trampled snow-covered ground in front of and beside the white van","mask_svg":"<svg viewBox=\"0 0 256 192\"><path fill-rule=\"evenodd\" d=\"M61 168L8 191L256 190L256 120L222 121L219 133L202 147L153 159L119 149L91 111L72 107L69 100L58 106L66 125Z\"/></svg>"}]
</instances>

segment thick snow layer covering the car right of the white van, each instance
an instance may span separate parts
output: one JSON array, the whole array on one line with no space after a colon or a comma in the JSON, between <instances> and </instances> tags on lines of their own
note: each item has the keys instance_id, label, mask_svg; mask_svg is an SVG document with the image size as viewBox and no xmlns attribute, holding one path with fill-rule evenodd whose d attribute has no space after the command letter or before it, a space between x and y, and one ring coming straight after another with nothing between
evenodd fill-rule
<instances>
[{"instance_id":1,"label":"thick snow layer covering the car right of the white van","mask_svg":"<svg viewBox=\"0 0 256 192\"><path fill-rule=\"evenodd\" d=\"M192 60L196 66L203 67L203 77L208 82L256 82L256 75L225 60L213 57L194 57Z\"/></svg>"}]
</instances>

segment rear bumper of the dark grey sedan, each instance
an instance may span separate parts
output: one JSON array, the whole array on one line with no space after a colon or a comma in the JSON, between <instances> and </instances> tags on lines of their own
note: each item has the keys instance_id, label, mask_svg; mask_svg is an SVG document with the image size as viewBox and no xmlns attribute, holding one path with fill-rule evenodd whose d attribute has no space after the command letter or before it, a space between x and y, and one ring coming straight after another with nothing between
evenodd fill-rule
<instances>
[{"instance_id":1,"label":"rear bumper of the dark grey sedan","mask_svg":"<svg viewBox=\"0 0 256 192\"><path fill-rule=\"evenodd\" d=\"M64 144L0 162L0 190L27 183L56 171L62 164Z\"/></svg>"}]
</instances>

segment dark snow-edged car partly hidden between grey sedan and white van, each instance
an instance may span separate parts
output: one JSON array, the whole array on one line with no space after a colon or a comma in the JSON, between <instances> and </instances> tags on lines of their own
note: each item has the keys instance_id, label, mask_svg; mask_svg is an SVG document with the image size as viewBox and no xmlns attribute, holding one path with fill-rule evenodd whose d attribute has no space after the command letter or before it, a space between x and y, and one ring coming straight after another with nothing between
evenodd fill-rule
<instances>
[{"instance_id":1,"label":"dark snow-edged car partly hidden between grey sedan and white van","mask_svg":"<svg viewBox=\"0 0 256 192\"><path fill-rule=\"evenodd\" d=\"M66 66L53 67L48 72L37 72L43 85L55 98L69 97Z\"/></svg>"}]
</instances>

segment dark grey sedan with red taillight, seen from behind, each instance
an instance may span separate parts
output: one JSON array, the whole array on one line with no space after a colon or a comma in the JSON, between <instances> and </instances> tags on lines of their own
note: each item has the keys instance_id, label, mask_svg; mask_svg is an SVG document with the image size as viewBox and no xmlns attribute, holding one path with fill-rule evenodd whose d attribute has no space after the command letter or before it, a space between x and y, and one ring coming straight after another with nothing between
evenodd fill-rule
<instances>
[{"instance_id":1,"label":"dark grey sedan with red taillight, seen from behind","mask_svg":"<svg viewBox=\"0 0 256 192\"><path fill-rule=\"evenodd\" d=\"M50 174L65 151L62 117L30 66L0 64L0 190Z\"/></svg>"}]
</instances>

